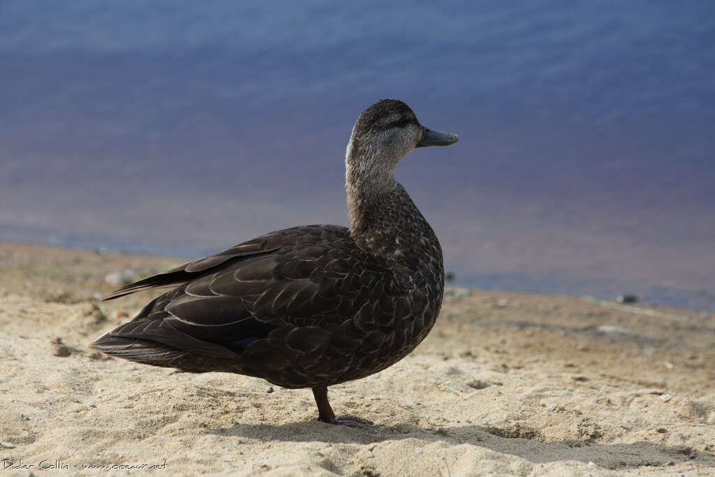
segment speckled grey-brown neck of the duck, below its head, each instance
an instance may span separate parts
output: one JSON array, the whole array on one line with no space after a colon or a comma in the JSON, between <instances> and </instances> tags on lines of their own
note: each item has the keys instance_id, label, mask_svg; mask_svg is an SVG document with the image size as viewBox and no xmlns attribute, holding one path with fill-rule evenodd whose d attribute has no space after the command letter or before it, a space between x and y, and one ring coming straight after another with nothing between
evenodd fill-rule
<instances>
[{"instance_id":1,"label":"speckled grey-brown neck of the duck, below its head","mask_svg":"<svg viewBox=\"0 0 715 477\"><path fill-rule=\"evenodd\" d=\"M393 169L371 168L373 161L350 159L348 154L345 189L350 237L358 246L390 260L410 260L425 252L434 252L441 259L437 237L395 180Z\"/></svg>"}]
</instances>

